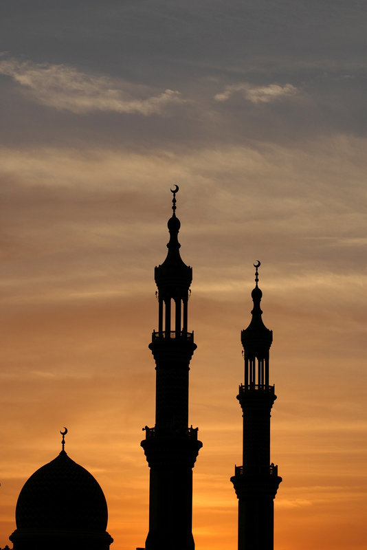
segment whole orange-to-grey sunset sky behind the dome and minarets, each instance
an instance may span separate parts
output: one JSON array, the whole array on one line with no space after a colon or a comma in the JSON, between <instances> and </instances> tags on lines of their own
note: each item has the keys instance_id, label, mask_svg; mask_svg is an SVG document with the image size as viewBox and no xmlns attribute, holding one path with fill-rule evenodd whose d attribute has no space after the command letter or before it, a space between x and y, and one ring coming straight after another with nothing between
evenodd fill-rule
<instances>
[{"instance_id":1,"label":"whole orange-to-grey sunset sky behind the dome and minarets","mask_svg":"<svg viewBox=\"0 0 367 550\"><path fill-rule=\"evenodd\" d=\"M261 261L276 550L366 549L367 4L0 3L0 547L66 450L144 547L154 267L193 267L197 550L236 550L241 329Z\"/></svg>"}]
</instances>

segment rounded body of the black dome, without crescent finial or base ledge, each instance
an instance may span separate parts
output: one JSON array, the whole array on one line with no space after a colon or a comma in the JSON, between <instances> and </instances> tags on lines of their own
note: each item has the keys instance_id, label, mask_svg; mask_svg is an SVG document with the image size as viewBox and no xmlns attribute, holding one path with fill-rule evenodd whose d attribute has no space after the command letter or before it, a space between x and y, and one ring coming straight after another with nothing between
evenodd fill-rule
<instances>
[{"instance_id":1,"label":"rounded body of the black dome, without crescent finial or base ledge","mask_svg":"<svg viewBox=\"0 0 367 550\"><path fill-rule=\"evenodd\" d=\"M106 531L107 503L95 478L65 450L25 482L16 503L16 527Z\"/></svg>"}]
</instances>

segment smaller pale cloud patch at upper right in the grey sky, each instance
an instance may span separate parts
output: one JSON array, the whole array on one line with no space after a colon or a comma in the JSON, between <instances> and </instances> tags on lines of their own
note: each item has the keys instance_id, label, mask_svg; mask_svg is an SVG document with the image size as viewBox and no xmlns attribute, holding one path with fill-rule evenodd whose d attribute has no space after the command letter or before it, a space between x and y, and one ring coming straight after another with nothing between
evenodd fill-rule
<instances>
[{"instance_id":1,"label":"smaller pale cloud patch at upper right in the grey sky","mask_svg":"<svg viewBox=\"0 0 367 550\"><path fill-rule=\"evenodd\" d=\"M233 84L225 87L225 91L216 94L214 100L227 101L236 92L241 92L243 97L252 103L270 103L298 92L298 89L291 85L269 84L268 86L252 86L249 83Z\"/></svg>"}]
</instances>

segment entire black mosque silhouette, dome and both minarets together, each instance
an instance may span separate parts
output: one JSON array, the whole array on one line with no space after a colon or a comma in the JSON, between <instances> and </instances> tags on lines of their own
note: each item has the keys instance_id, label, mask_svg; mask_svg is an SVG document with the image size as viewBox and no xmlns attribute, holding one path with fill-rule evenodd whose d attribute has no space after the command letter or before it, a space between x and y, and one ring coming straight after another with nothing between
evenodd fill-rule
<instances>
[{"instance_id":1,"label":"entire black mosque silhouette, dome and both minarets together","mask_svg":"<svg viewBox=\"0 0 367 550\"><path fill-rule=\"evenodd\" d=\"M194 550L192 537L192 469L202 446L198 428L188 426L190 360L197 345L188 331L192 267L183 263L178 234L181 223L168 220L166 259L155 267L158 330L149 348L155 359L155 426L146 426L141 445L150 467L149 530L145 549ZM269 349L273 334L263 323L254 267L254 307L241 333L245 383L237 399L243 410L243 465L231 481L238 497L238 550L274 549L274 498L282 478L270 463L270 413L276 395L269 384ZM14 550L109 550L107 503L100 485L62 450L25 482L16 503ZM1 549L0 549L1 550ZM5 547L3 550L8 550ZM225 549L223 549L225 550Z\"/></svg>"}]
</instances>

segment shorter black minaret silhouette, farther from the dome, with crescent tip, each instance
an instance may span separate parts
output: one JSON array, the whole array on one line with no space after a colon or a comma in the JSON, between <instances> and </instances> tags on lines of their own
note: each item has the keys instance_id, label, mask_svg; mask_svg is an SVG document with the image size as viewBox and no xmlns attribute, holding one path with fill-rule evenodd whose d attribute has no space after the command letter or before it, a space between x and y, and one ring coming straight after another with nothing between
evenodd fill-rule
<instances>
[{"instance_id":1,"label":"shorter black minaret silhouette, farther from the dome, with crescent tip","mask_svg":"<svg viewBox=\"0 0 367 550\"><path fill-rule=\"evenodd\" d=\"M238 497L238 550L274 549L274 498L282 478L270 464L270 412L276 400L269 385L269 349L273 332L263 323L258 288L252 291L254 309L247 329L241 332L245 358L245 384L237 395L243 410L243 465L236 466L231 481Z\"/></svg>"}]
</instances>

